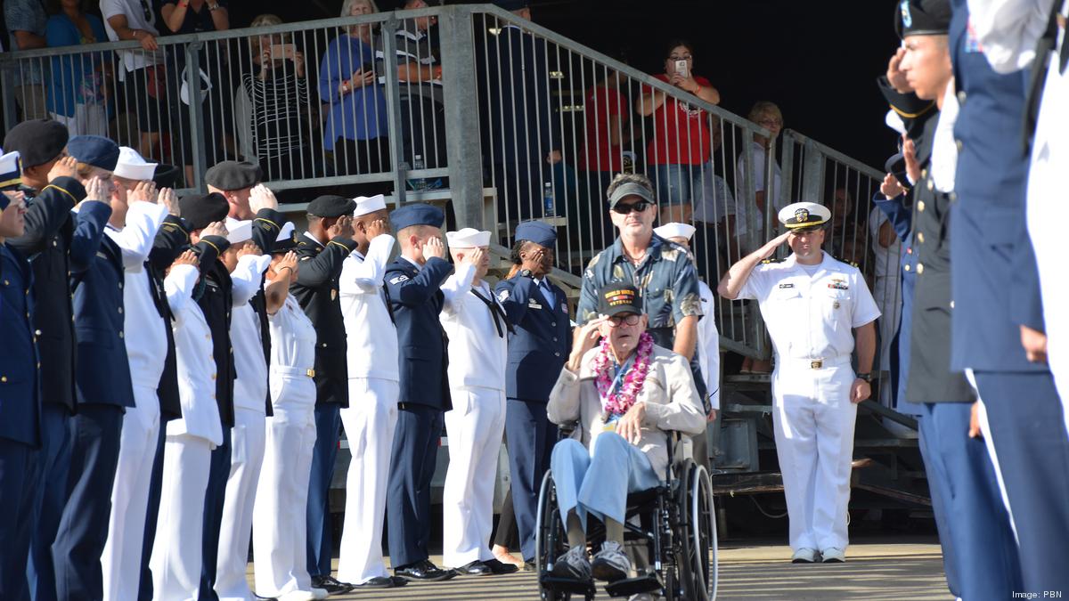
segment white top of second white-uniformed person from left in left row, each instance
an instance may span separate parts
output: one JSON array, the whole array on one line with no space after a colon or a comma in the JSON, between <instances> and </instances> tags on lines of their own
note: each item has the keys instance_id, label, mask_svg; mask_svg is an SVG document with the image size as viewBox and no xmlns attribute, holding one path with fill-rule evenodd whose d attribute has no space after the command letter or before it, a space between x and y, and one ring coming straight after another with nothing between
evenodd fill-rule
<instances>
[{"instance_id":1,"label":"white top of second white-uniformed person from left in left row","mask_svg":"<svg viewBox=\"0 0 1069 601\"><path fill-rule=\"evenodd\" d=\"M220 445L222 422L215 400L212 330L204 313L192 299L199 275L193 265L175 265L164 280L167 303L174 313L174 356L179 372L179 403L182 406L182 418L167 422L167 434L190 434Z\"/></svg>"}]
</instances>

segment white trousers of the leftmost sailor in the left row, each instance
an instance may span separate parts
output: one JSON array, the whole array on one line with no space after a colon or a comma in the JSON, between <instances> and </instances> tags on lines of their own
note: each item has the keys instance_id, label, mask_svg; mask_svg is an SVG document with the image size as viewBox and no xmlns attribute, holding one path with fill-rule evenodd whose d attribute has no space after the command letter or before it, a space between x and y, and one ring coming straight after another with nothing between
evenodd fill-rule
<instances>
[{"instance_id":1,"label":"white trousers of the leftmost sailor in the left row","mask_svg":"<svg viewBox=\"0 0 1069 601\"><path fill-rule=\"evenodd\" d=\"M108 542L100 555L104 599L108 601L137 600L149 484L159 442L156 389L135 384L134 401L136 406L127 409L123 418L119 464L111 487Z\"/></svg>"}]
</instances>

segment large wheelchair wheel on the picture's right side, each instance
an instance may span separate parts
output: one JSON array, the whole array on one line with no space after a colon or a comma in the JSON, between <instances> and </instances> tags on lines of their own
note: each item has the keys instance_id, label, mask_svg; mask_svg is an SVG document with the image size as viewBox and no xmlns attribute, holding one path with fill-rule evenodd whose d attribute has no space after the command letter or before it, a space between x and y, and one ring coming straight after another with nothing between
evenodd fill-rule
<instances>
[{"instance_id":1,"label":"large wheelchair wheel on the picture's right side","mask_svg":"<svg viewBox=\"0 0 1069 601\"><path fill-rule=\"evenodd\" d=\"M691 466L687 483L688 544L684 587L687 599L716 599L718 563L716 556L716 513L709 473L702 465Z\"/></svg>"}]
</instances>

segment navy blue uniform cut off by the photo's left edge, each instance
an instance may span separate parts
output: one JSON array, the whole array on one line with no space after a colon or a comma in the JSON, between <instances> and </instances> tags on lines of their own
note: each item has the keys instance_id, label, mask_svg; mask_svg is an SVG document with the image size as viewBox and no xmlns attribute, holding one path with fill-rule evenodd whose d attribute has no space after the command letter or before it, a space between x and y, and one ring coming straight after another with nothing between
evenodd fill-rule
<instances>
[{"instance_id":1,"label":"navy blue uniform cut off by the photo's left edge","mask_svg":"<svg viewBox=\"0 0 1069 601\"><path fill-rule=\"evenodd\" d=\"M14 211L14 209L12 210ZM26 258L0 245L0 598L26 595L29 524L41 447L40 361L33 334L33 275Z\"/></svg>"}]
</instances>

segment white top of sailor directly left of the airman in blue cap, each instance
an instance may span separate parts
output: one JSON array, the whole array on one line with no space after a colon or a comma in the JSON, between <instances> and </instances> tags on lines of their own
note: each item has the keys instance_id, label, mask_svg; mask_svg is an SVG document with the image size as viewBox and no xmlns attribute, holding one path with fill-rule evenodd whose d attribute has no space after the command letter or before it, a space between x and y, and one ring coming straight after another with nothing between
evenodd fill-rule
<instances>
[{"instance_id":1,"label":"white top of sailor directly left of the airman in blue cap","mask_svg":"<svg viewBox=\"0 0 1069 601\"><path fill-rule=\"evenodd\" d=\"M354 251L342 262L338 290L348 339L350 377L401 380L397 327L383 293L383 273L393 243L389 234L375 236L367 257Z\"/></svg>"}]
</instances>

